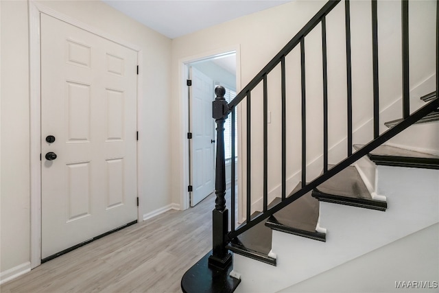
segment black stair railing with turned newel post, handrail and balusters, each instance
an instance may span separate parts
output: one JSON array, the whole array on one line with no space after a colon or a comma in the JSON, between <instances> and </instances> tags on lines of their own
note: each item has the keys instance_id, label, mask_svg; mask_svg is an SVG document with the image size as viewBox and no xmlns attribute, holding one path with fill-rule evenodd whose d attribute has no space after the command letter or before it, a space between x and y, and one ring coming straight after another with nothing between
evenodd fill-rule
<instances>
[{"instance_id":1,"label":"black stair railing with turned newel post, handrail and balusters","mask_svg":"<svg viewBox=\"0 0 439 293\"><path fill-rule=\"evenodd\" d=\"M327 94L327 42L326 42L326 16L333 10L333 8L340 2L328 1L322 9L320 9L315 16L292 38L292 40L283 47L281 51L266 65L244 89L237 94L235 99L227 103L224 99L225 89L218 86L215 89L216 98L213 101L213 118L217 124L217 152L216 152L216 174L215 174L215 209L213 210L213 253L209 257L209 265L217 268L227 268L231 263L231 255L226 249L226 244L232 239L244 233L252 226L267 219L277 211L283 209L288 204L291 204L301 196L304 196L309 191L324 183L324 181L335 176L355 161L361 159L379 145L385 143L396 134L399 134L416 121L425 117L432 111L439 107L439 98L431 99L431 101L419 108L414 113L410 114L410 75L409 75L409 32L408 32L408 10L409 3L407 0L401 1L401 24L402 24L402 67L403 67L403 120L396 124L393 128L379 134L379 78L378 78L378 36L377 36L377 0L371 1L372 10L372 73L373 73L373 137L374 139L364 145L363 148L352 152L353 146L353 127L352 127L352 82L351 82L351 16L349 0L345 1L345 24L346 24L346 93L347 93L347 156L340 163L328 169L328 94ZM324 139L323 139L323 174L318 176L310 183L307 183L306 176L306 156L307 156L307 129L306 129L306 86L305 86L305 36L313 30L316 25L321 23L322 27L322 75L323 75L323 110L324 110ZM436 93L439 93L439 3L436 1ZM289 54L292 49L300 45L300 79L301 79L301 104L302 104L302 188L295 193L287 196L286 190L286 84L285 84L285 56ZM274 207L268 209L268 80L267 75L276 66L281 64L281 100L282 100L282 200ZM251 190L250 190L250 106L251 106L251 92L260 83L263 83L263 213L250 218L250 204L251 204ZM232 212L230 213L230 231L228 231L228 210L226 209L226 172L224 160L224 121L231 113L232 128L231 128L231 152L232 158L235 158L235 110L237 105L246 98L246 222L235 228L235 180L231 180L230 189L230 205ZM235 178L235 160L231 160L231 176Z\"/></svg>"}]
</instances>

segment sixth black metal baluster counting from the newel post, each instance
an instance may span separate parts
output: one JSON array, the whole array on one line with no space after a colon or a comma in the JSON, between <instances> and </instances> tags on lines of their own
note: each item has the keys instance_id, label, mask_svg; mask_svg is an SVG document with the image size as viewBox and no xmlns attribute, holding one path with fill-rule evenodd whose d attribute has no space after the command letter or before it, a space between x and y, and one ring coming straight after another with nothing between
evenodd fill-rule
<instances>
[{"instance_id":1,"label":"sixth black metal baluster counting from the newel post","mask_svg":"<svg viewBox=\"0 0 439 293\"><path fill-rule=\"evenodd\" d=\"M327 22L322 18L322 68L323 68L323 172L328 172L328 68Z\"/></svg>"}]
</instances>

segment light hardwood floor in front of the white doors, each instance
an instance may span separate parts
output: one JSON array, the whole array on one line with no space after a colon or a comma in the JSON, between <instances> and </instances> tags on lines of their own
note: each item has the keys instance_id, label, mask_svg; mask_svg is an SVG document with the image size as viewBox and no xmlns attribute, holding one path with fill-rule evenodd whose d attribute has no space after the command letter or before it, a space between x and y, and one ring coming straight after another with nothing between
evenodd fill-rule
<instances>
[{"instance_id":1,"label":"light hardwood floor in front of the white doors","mask_svg":"<svg viewBox=\"0 0 439 293\"><path fill-rule=\"evenodd\" d=\"M212 247L211 195L82 246L1 285L13 292L181 292L182 275Z\"/></svg>"}]
</instances>

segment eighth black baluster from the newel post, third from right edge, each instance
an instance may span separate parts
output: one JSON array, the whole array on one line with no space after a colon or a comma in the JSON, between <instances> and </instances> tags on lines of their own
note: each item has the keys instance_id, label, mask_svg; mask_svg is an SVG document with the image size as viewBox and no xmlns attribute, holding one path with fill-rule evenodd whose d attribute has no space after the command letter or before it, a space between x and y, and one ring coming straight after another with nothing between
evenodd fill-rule
<instances>
[{"instance_id":1,"label":"eighth black baluster from the newel post, third from right edge","mask_svg":"<svg viewBox=\"0 0 439 293\"><path fill-rule=\"evenodd\" d=\"M372 0L373 138L379 137L378 12Z\"/></svg>"}]
</instances>

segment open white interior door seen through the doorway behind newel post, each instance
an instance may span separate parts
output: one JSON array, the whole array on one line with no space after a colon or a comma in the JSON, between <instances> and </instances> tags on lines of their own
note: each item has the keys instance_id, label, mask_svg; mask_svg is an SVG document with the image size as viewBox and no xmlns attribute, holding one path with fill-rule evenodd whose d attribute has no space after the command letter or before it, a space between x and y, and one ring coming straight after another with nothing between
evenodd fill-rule
<instances>
[{"instance_id":1,"label":"open white interior door seen through the doorway behind newel post","mask_svg":"<svg viewBox=\"0 0 439 293\"><path fill-rule=\"evenodd\" d=\"M215 139L212 118L213 80L191 67L191 207L214 191Z\"/></svg>"}]
</instances>

